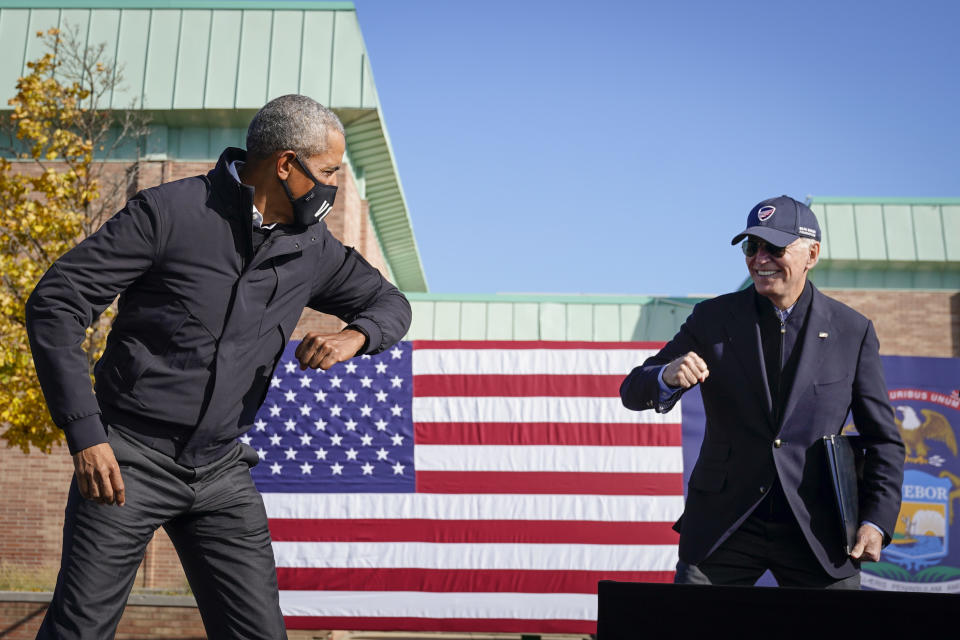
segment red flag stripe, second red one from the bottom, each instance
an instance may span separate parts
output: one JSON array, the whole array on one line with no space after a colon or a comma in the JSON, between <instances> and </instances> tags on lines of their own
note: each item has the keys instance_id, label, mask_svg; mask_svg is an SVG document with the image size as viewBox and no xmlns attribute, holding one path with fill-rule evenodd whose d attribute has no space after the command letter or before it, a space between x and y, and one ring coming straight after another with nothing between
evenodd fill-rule
<instances>
[{"instance_id":1,"label":"red flag stripe, second red one from the bottom","mask_svg":"<svg viewBox=\"0 0 960 640\"><path fill-rule=\"evenodd\" d=\"M672 582L673 571L277 567L277 579L285 591L596 593L600 580Z\"/></svg>"}]
</instances>

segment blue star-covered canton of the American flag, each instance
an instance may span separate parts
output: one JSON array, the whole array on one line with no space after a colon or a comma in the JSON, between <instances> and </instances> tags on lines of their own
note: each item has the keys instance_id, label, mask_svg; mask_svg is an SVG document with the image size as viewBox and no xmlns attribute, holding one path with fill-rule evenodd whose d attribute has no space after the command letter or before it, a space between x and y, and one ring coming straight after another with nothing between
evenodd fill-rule
<instances>
[{"instance_id":1,"label":"blue star-covered canton of the American flag","mask_svg":"<svg viewBox=\"0 0 960 640\"><path fill-rule=\"evenodd\" d=\"M253 429L263 493L413 493L411 345L325 372L287 345Z\"/></svg>"}]
</instances>

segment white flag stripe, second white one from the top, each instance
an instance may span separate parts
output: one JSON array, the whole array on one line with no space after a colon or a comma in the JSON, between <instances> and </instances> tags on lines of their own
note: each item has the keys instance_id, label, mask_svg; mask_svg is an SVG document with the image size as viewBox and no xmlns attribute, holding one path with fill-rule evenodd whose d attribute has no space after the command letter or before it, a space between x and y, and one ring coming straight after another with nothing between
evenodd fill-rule
<instances>
[{"instance_id":1,"label":"white flag stripe, second white one from the top","mask_svg":"<svg viewBox=\"0 0 960 640\"><path fill-rule=\"evenodd\" d=\"M668 413L630 411L620 398L419 397L416 422L587 422L679 424L680 405Z\"/></svg>"}]
</instances>

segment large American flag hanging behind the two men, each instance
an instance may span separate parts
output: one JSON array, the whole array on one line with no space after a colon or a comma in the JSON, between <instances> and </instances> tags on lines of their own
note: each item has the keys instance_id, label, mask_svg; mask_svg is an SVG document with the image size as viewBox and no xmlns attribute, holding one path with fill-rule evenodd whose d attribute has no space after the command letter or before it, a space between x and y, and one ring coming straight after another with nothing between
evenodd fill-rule
<instances>
[{"instance_id":1,"label":"large American flag hanging behind the two men","mask_svg":"<svg viewBox=\"0 0 960 640\"><path fill-rule=\"evenodd\" d=\"M596 633L597 582L666 582L679 406L624 409L659 345L287 346L254 428L291 629Z\"/></svg>"}]
</instances>

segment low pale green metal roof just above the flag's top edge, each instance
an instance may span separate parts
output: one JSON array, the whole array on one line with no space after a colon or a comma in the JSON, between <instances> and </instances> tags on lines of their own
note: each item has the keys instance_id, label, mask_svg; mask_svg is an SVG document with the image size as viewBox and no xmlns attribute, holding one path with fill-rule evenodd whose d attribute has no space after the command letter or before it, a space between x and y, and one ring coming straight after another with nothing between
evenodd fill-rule
<instances>
[{"instance_id":1,"label":"low pale green metal roof just above the flag's top edge","mask_svg":"<svg viewBox=\"0 0 960 640\"><path fill-rule=\"evenodd\" d=\"M669 340L704 298L407 294L408 340Z\"/></svg>"}]
</instances>

